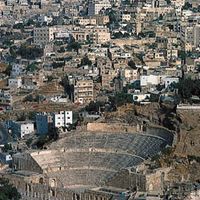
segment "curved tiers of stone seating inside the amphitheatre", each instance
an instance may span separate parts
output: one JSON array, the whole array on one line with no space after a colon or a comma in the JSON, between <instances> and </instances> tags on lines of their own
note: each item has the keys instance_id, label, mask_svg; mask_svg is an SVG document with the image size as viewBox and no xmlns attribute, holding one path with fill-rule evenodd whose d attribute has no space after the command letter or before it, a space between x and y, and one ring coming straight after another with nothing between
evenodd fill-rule
<instances>
[{"instance_id":1,"label":"curved tiers of stone seating inside the amphitheatre","mask_svg":"<svg viewBox=\"0 0 200 200\"><path fill-rule=\"evenodd\" d=\"M159 153L169 141L147 134L75 134L64 150L52 150L48 157L34 155L49 177L63 187L102 186L119 170L133 167ZM58 168L59 170L51 170Z\"/></svg>"}]
</instances>

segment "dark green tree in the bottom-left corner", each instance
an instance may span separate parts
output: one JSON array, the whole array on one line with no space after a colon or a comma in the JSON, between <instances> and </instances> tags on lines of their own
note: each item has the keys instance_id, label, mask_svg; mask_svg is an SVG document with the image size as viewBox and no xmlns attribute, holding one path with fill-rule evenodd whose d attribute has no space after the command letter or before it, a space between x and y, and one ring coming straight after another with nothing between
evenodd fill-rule
<instances>
[{"instance_id":1,"label":"dark green tree in the bottom-left corner","mask_svg":"<svg viewBox=\"0 0 200 200\"><path fill-rule=\"evenodd\" d=\"M20 193L5 178L0 178L0 200L19 200Z\"/></svg>"}]
</instances>

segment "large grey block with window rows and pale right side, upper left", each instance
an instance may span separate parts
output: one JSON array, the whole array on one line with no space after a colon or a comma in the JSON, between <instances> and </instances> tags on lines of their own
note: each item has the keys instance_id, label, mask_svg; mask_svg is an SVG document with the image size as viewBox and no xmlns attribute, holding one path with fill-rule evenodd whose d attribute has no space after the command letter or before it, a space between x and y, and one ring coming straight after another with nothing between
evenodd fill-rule
<instances>
[{"instance_id":1,"label":"large grey block with window rows and pale right side, upper left","mask_svg":"<svg viewBox=\"0 0 200 200\"><path fill-rule=\"evenodd\" d=\"M46 45L54 40L54 27L34 28L33 40L34 44Z\"/></svg>"}]
</instances>

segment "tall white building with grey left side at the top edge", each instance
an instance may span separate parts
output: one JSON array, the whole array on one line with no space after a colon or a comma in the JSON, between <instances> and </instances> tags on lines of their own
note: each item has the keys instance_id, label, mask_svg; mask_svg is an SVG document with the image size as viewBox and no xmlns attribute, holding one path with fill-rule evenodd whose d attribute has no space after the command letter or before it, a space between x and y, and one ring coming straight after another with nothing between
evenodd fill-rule
<instances>
[{"instance_id":1,"label":"tall white building with grey left side at the top edge","mask_svg":"<svg viewBox=\"0 0 200 200\"><path fill-rule=\"evenodd\" d=\"M111 8L109 0L89 0L88 15L98 15L102 9L106 10L107 8Z\"/></svg>"}]
</instances>

